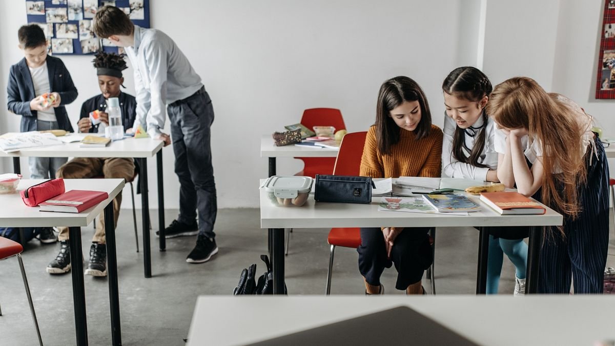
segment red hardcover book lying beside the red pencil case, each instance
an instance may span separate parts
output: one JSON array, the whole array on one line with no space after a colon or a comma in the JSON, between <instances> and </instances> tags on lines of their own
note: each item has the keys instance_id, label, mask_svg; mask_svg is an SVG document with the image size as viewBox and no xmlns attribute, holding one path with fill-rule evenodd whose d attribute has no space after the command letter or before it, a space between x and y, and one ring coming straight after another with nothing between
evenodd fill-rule
<instances>
[{"instance_id":1,"label":"red hardcover book lying beside the red pencil case","mask_svg":"<svg viewBox=\"0 0 615 346\"><path fill-rule=\"evenodd\" d=\"M82 212L109 198L102 191L70 190L39 204L41 211Z\"/></svg>"}]
</instances>

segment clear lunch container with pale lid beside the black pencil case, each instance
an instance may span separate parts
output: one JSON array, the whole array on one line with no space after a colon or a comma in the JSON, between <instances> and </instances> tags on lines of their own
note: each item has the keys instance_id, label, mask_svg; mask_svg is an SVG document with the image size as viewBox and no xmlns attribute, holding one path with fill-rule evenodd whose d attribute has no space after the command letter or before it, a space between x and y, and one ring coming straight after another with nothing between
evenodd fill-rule
<instances>
[{"instance_id":1,"label":"clear lunch container with pale lid beside the black pencil case","mask_svg":"<svg viewBox=\"0 0 615 346\"><path fill-rule=\"evenodd\" d=\"M267 179L263 187L274 205L300 207L308 200L313 180L296 175L274 175Z\"/></svg>"}]
</instances>

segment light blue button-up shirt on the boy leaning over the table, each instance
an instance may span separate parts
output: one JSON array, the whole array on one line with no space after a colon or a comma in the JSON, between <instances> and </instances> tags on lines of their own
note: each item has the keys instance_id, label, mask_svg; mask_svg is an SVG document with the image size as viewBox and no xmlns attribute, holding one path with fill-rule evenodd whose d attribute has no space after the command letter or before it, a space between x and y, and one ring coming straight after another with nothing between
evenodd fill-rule
<instances>
[{"instance_id":1,"label":"light blue button-up shirt on the boy leaning over the table","mask_svg":"<svg viewBox=\"0 0 615 346\"><path fill-rule=\"evenodd\" d=\"M186 99L203 84L186 55L160 30L135 25L135 44L125 50L135 70L135 129L141 124L156 137L164 127L165 106Z\"/></svg>"}]
</instances>

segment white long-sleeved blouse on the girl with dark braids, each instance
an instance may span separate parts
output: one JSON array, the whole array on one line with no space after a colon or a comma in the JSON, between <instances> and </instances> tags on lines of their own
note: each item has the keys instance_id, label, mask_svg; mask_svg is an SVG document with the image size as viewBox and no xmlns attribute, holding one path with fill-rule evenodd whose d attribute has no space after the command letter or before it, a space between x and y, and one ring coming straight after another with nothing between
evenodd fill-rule
<instances>
[{"instance_id":1,"label":"white long-sleeved blouse on the girl with dark braids","mask_svg":"<svg viewBox=\"0 0 615 346\"><path fill-rule=\"evenodd\" d=\"M472 127L482 126L484 123L482 116L478 118L476 123ZM444 168L444 174L451 178L463 178L474 180L486 180L487 172L490 169L498 168L498 152L494 146L494 126L493 119L488 118L486 126L482 129L485 132L485 145L483 146L482 154L478 158L478 163L485 164L488 167L477 167L469 163L459 162L453 155L453 135L457 124L448 115L444 116L444 140L442 145L442 166ZM478 136L478 134L477 134ZM471 137L464 133L464 140L466 141L466 147L474 148L474 142L477 137ZM506 142L505 142L506 143ZM505 147L506 148L506 147ZM466 148L463 149L466 156L470 156L469 151Z\"/></svg>"}]
</instances>

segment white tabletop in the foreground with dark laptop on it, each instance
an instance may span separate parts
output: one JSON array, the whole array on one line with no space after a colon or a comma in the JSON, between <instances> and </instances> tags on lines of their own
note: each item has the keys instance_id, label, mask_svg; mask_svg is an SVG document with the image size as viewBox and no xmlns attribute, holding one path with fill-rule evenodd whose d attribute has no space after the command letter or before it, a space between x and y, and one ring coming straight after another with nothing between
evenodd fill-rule
<instances>
[{"instance_id":1,"label":"white tabletop in the foreground with dark laptop on it","mask_svg":"<svg viewBox=\"0 0 615 346\"><path fill-rule=\"evenodd\" d=\"M400 305L482 345L615 339L615 296L199 296L186 345L245 345Z\"/></svg>"}]
</instances>

